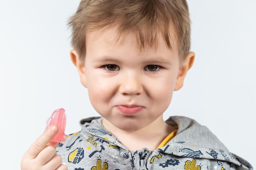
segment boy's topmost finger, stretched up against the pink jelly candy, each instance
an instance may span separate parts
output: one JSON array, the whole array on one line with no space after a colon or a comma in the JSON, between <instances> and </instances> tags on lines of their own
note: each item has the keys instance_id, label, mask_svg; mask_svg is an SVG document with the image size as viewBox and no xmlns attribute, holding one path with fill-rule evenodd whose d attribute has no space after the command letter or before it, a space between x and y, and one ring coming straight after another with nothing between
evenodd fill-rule
<instances>
[{"instance_id":1,"label":"boy's topmost finger, stretched up against the pink jelly candy","mask_svg":"<svg viewBox=\"0 0 256 170\"><path fill-rule=\"evenodd\" d=\"M51 139L57 134L57 126L51 126L48 128L36 141L29 147L25 155L30 159L36 158L36 156L45 148L45 146L51 141Z\"/></svg>"}]
</instances>

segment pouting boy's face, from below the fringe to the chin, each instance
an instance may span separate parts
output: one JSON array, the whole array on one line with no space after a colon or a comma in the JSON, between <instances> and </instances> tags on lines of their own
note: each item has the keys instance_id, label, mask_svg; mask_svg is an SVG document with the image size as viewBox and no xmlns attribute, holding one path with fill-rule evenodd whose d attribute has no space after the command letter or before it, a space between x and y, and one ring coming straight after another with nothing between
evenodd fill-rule
<instances>
[{"instance_id":1,"label":"pouting boy's face, from below the fringe to the chin","mask_svg":"<svg viewBox=\"0 0 256 170\"><path fill-rule=\"evenodd\" d=\"M108 122L132 131L163 119L173 91L182 87L184 78L180 78L184 69L174 42L172 46L171 51L159 36L158 50L140 51L133 34L118 42L114 29L87 34L85 62L76 63L75 53L71 56L103 125Z\"/></svg>"}]
</instances>

